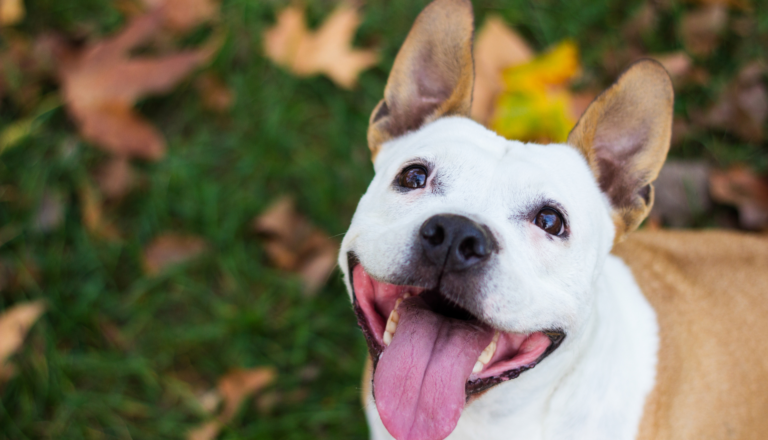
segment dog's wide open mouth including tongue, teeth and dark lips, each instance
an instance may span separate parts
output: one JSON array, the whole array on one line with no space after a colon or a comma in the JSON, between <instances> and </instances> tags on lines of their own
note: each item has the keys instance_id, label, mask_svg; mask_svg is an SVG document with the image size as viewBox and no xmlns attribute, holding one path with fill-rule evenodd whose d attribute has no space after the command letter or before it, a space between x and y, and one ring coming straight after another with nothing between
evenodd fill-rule
<instances>
[{"instance_id":1,"label":"dog's wide open mouth including tongue, teeth and dark lips","mask_svg":"<svg viewBox=\"0 0 768 440\"><path fill-rule=\"evenodd\" d=\"M565 338L560 330L495 329L439 289L390 284L354 254L348 261L376 407L397 440L447 437L467 401L535 367Z\"/></svg>"}]
</instances>

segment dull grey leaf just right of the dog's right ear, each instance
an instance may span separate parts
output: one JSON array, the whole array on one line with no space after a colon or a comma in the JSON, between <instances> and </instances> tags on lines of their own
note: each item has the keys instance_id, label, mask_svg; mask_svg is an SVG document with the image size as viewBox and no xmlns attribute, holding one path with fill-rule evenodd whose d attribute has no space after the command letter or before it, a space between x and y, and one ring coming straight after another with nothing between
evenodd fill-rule
<instances>
[{"instance_id":1,"label":"dull grey leaf just right of the dog's right ear","mask_svg":"<svg viewBox=\"0 0 768 440\"><path fill-rule=\"evenodd\" d=\"M705 161L668 160L653 184L655 200L650 217L672 227L692 226L708 212L709 165Z\"/></svg>"}]
</instances>

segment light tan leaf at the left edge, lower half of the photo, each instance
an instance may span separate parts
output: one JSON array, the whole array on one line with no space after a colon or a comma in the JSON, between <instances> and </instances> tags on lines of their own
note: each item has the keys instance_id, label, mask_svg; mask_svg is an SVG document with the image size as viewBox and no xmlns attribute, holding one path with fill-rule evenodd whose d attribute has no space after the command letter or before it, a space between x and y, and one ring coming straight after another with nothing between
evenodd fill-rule
<instances>
[{"instance_id":1,"label":"light tan leaf at the left edge, lower half of the photo","mask_svg":"<svg viewBox=\"0 0 768 440\"><path fill-rule=\"evenodd\" d=\"M43 301L33 301L17 304L0 314L0 382L13 375L8 358L21 348L27 332L44 311Z\"/></svg>"}]
</instances>

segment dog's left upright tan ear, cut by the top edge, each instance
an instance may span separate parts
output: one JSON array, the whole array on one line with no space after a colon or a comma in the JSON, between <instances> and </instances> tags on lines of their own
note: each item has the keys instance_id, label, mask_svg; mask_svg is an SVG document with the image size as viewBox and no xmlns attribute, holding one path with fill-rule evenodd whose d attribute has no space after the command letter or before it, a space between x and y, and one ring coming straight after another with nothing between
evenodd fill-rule
<instances>
[{"instance_id":1,"label":"dog's left upright tan ear, cut by the top edge","mask_svg":"<svg viewBox=\"0 0 768 440\"><path fill-rule=\"evenodd\" d=\"M441 116L469 116L473 21L469 0L435 0L416 18L371 114L373 159L384 142Z\"/></svg>"}]
</instances>

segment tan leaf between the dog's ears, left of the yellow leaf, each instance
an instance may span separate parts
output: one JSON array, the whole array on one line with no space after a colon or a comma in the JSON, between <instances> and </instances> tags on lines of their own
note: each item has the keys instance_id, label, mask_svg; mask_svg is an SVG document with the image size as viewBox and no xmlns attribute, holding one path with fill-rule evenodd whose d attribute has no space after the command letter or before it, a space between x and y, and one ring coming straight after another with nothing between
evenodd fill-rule
<instances>
[{"instance_id":1,"label":"tan leaf between the dog's ears, left of the yellow leaf","mask_svg":"<svg viewBox=\"0 0 768 440\"><path fill-rule=\"evenodd\" d=\"M472 119L488 125L496 98L504 89L501 72L533 58L528 43L498 16L486 18L477 32L474 47L475 85L472 92Z\"/></svg>"}]
</instances>

